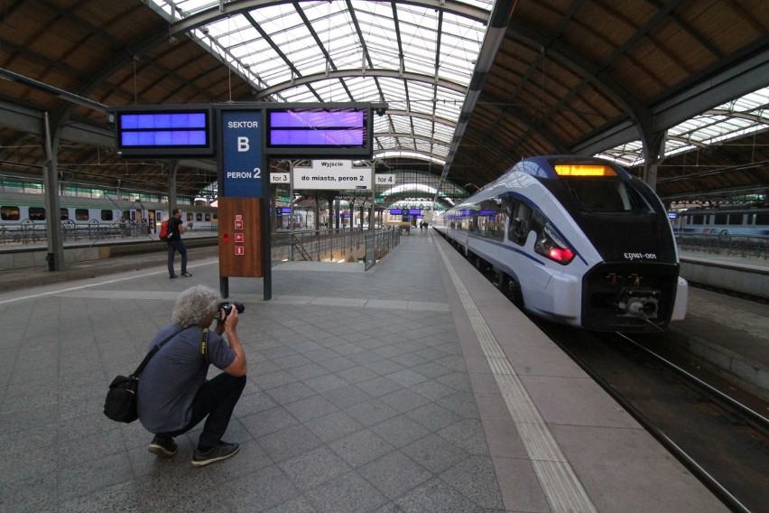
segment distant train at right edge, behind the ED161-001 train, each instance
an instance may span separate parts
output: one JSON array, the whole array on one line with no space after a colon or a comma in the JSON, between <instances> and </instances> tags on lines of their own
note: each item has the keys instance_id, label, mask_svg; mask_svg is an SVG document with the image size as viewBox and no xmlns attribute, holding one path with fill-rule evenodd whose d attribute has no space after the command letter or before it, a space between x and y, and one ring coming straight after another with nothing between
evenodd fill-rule
<instances>
[{"instance_id":1,"label":"distant train at right edge, behind the ED161-001 train","mask_svg":"<svg viewBox=\"0 0 769 513\"><path fill-rule=\"evenodd\" d=\"M676 235L732 238L769 238L769 209L755 207L722 207L689 209L672 213Z\"/></svg>"}]
</instances>

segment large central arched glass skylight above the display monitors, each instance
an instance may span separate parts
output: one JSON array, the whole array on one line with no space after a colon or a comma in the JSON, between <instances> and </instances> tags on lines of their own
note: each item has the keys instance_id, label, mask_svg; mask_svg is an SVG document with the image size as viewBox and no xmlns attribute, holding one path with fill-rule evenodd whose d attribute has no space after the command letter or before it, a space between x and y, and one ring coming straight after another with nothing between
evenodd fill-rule
<instances>
[{"instance_id":1,"label":"large central arched glass skylight above the display monitors","mask_svg":"<svg viewBox=\"0 0 769 513\"><path fill-rule=\"evenodd\" d=\"M444 164L494 2L150 0L255 100L386 102L375 158Z\"/></svg>"}]
</instances>

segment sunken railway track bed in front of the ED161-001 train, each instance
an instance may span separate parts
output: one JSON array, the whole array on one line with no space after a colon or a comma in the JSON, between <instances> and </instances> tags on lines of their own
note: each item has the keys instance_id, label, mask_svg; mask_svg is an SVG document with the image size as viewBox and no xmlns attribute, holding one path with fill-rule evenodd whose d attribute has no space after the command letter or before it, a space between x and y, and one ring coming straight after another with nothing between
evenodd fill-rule
<instances>
[{"instance_id":1,"label":"sunken railway track bed in front of the ED161-001 train","mask_svg":"<svg viewBox=\"0 0 769 513\"><path fill-rule=\"evenodd\" d=\"M658 354L653 335L533 321L729 508L766 510L769 419L755 406Z\"/></svg>"}]
</instances>

